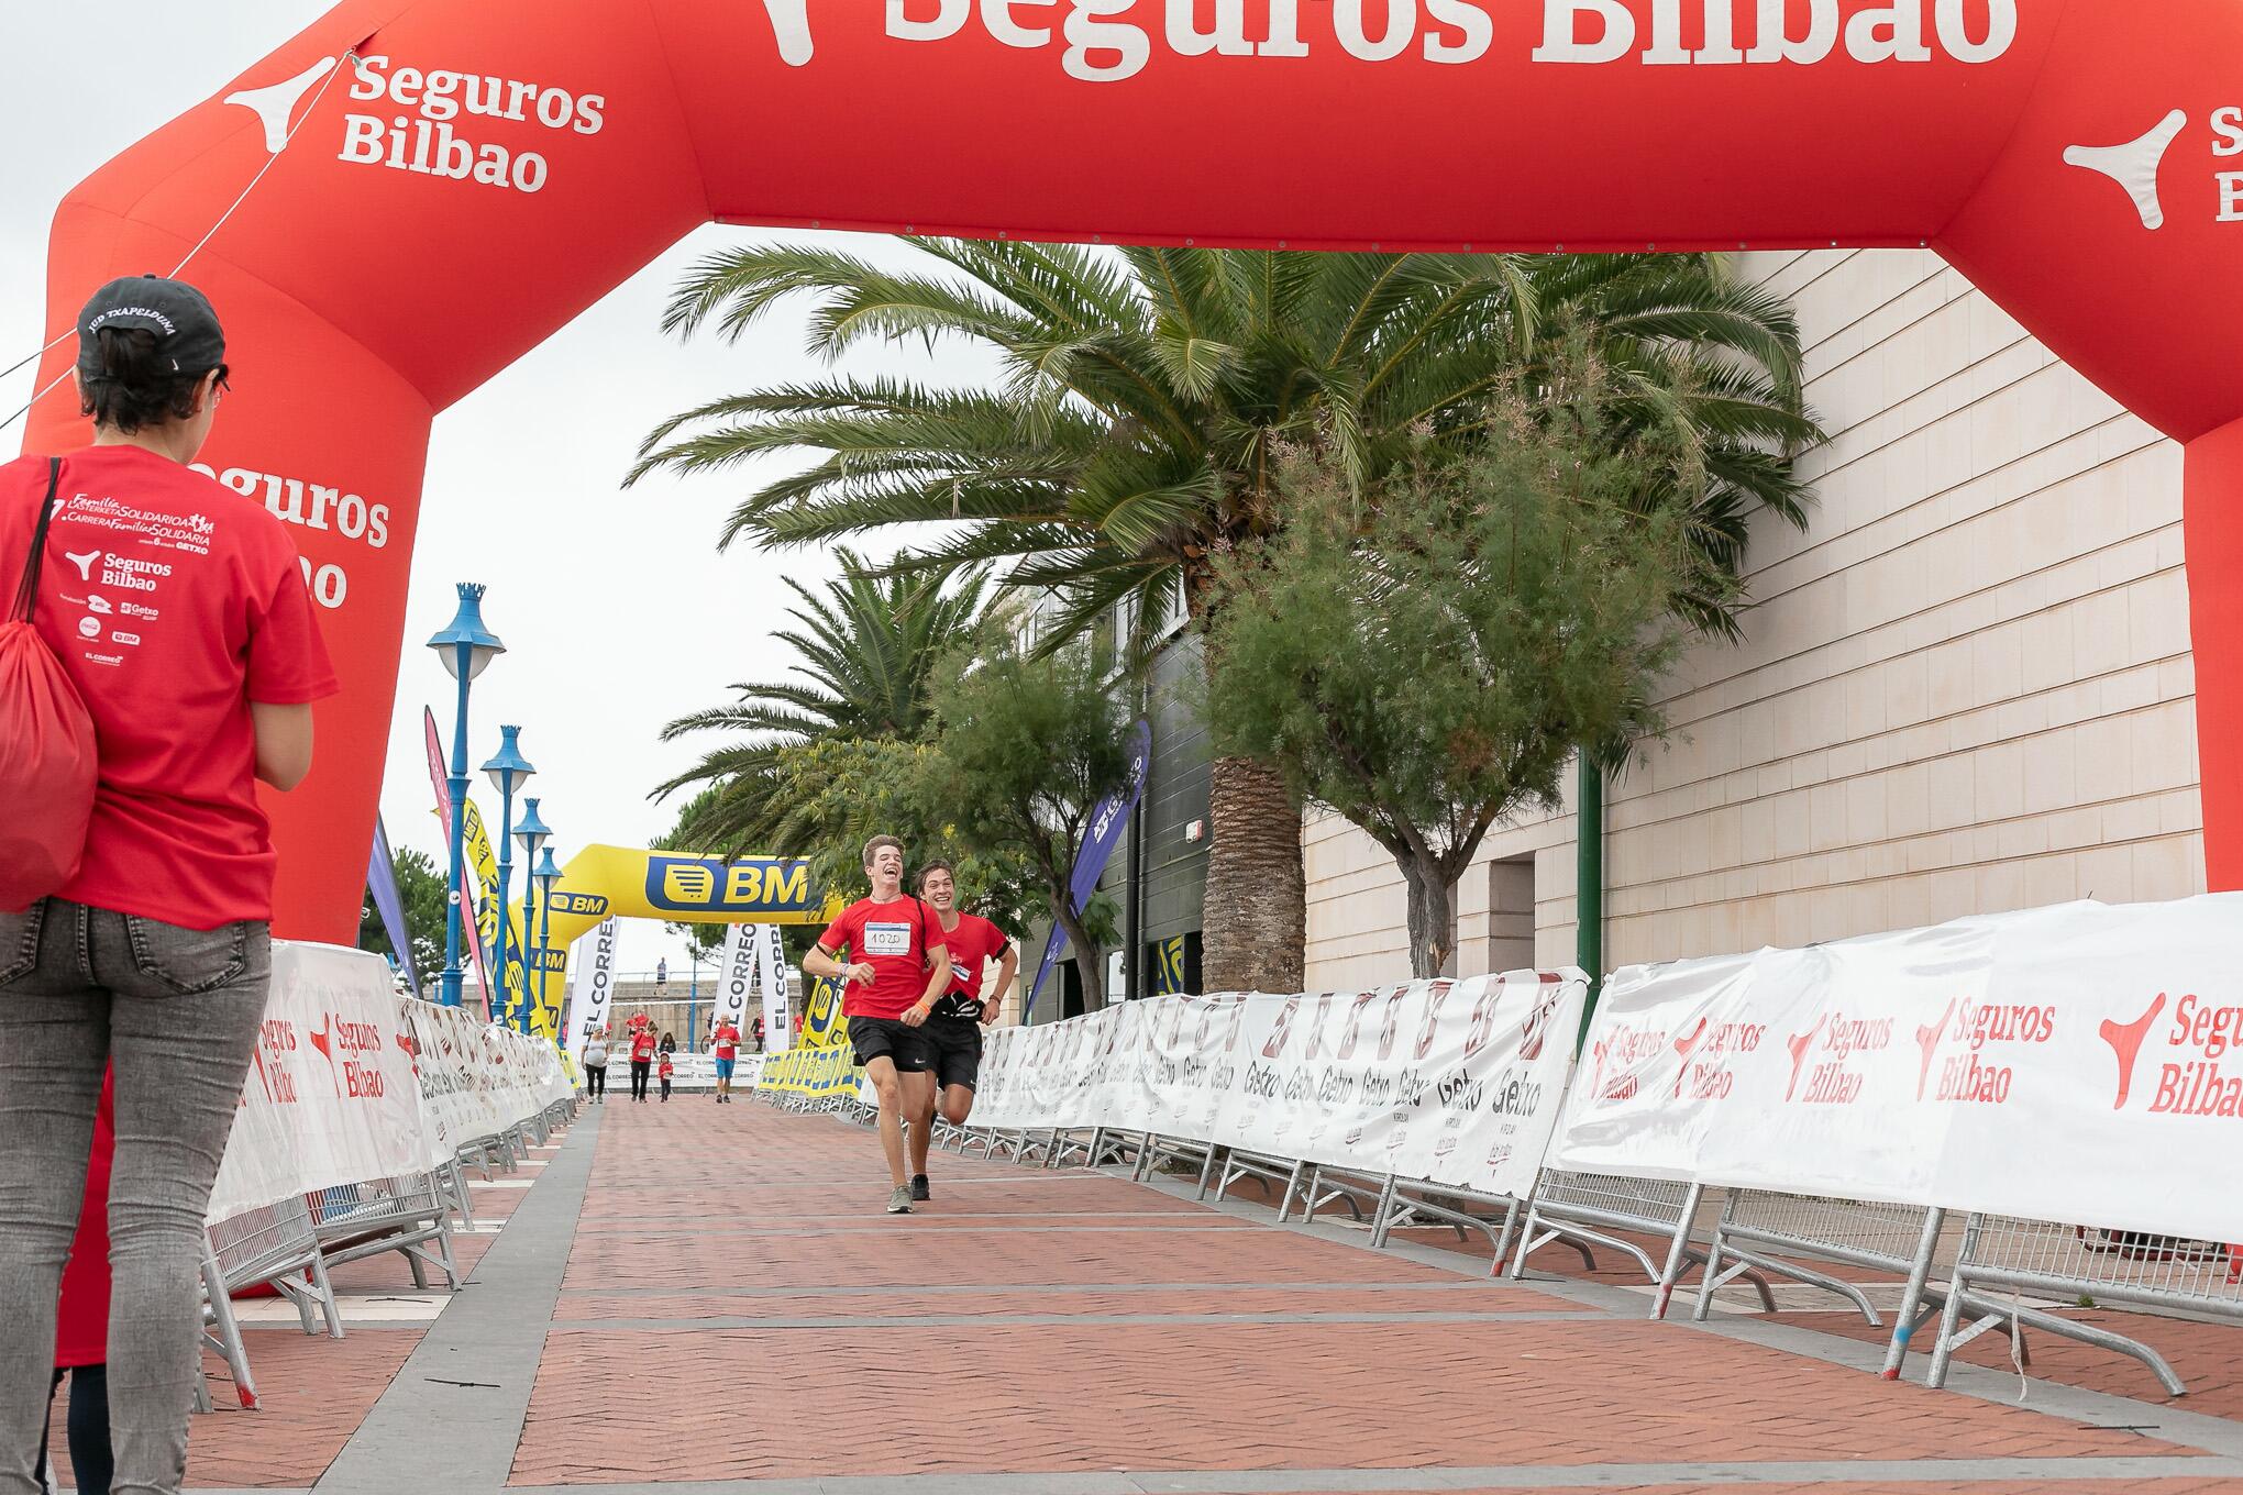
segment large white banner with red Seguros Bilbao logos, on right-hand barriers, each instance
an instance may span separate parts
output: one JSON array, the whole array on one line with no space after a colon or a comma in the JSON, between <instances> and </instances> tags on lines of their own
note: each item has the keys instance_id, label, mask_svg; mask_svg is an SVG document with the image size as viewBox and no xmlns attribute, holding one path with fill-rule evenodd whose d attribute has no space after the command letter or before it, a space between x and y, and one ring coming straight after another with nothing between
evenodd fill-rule
<instances>
[{"instance_id":1,"label":"large white banner with red Seguros Bilbao logos, on right-hand barriers","mask_svg":"<svg viewBox=\"0 0 2243 1495\"><path fill-rule=\"evenodd\" d=\"M2243 894L1631 966L1552 1163L2243 1242Z\"/></svg>"}]
</instances>

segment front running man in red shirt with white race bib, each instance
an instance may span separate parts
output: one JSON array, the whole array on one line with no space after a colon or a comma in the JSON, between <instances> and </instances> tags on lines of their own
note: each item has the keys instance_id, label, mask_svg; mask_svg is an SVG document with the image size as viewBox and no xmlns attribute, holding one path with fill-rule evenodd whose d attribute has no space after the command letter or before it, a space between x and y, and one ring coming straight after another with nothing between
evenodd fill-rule
<instances>
[{"instance_id":1,"label":"front running man in red shirt with white race bib","mask_svg":"<svg viewBox=\"0 0 2243 1495\"><path fill-rule=\"evenodd\" d=\"M864 872L873 897L841 910L803 957L803 971L841 982L848 1040L879 1094L879 1148L888 1154L888 1177L895 1179L888 1213L908 1215L904 1116L917 1116L922 1094L933 1092L933 1053L920 1027L935 1009L935 997L951 986L951 953L926 903L904 892L902 841L866 841ZM848 964L841 964L843 950Z\"/></svg>"}]
</instances>

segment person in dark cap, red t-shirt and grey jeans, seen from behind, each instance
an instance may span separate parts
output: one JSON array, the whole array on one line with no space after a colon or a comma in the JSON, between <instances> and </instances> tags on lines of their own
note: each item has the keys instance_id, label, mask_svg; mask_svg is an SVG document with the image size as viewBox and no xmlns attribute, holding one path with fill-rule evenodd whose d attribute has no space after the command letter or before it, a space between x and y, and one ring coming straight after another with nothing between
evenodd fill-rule
<instances>
[{"instance_id":1,"label":"person in dark cap, red t-shirt and grey jeans, seen from behind","mask_svg":"<svg viewBox=\"0 0 2243 1495\"><path fill-rule=\"evenodd\" d=\"M31 623L101 744L79 872L0 910L0 1491L34 1491L56 1296L103 1067L110 1426L119 1488L173 1495L200 1372L202 1217L271 984L274 845L258 780L312 767L336 688L296 545L188 464L227 388L211 303L153 276L79 314L94 444L0 466L0 589L54 491ZM27 569L27 567L25 567Z\"/></svg>"}]
</instances>

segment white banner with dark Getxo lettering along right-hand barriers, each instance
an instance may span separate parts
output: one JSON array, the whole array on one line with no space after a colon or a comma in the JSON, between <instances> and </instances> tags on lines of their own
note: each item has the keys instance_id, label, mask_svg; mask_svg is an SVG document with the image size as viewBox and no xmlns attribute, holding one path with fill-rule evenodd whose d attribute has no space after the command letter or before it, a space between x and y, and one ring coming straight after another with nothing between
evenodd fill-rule
<instances>
[{"instance_id":1,"label":"white banner with dark Getxo lettering along right-hand barriers","mask_svg":"<svg viewBox=\"0 0 2243 1495\"><path fill-rule=\"evenodd\" d=\"M994 1033L973 1121L1166 1132L1523 1197L1586 995L1577 971L1514 971L1128 1002Z\"/></svg>"}]
</instances>

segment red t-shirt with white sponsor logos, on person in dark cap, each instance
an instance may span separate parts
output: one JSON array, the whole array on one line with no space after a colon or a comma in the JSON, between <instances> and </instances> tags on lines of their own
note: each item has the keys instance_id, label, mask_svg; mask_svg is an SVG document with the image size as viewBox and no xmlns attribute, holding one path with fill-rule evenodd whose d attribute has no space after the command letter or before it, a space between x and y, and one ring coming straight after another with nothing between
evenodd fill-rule
<instances>
[{"instance_id":1,"label":"red t-shirt with white sponsor logos, on person in dark cap","mask_svg":"<svg viewBox=\"0 0 2243 1495\"><path fill-rule=\"evenodd\" d=\"M0 466L13 589L47 459ZM334 695L296 545L262 504L139 446L63 457L34 623L101 742L72 903L191 930L271 919L249 702Z\"/></svg>"}]
</instances>

